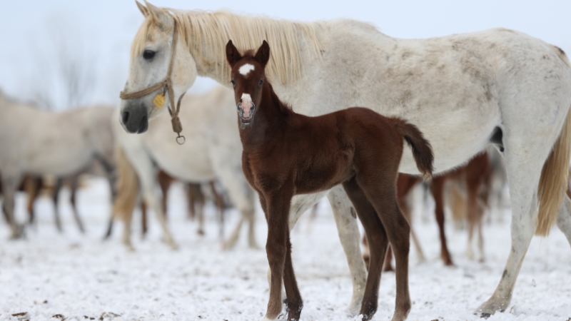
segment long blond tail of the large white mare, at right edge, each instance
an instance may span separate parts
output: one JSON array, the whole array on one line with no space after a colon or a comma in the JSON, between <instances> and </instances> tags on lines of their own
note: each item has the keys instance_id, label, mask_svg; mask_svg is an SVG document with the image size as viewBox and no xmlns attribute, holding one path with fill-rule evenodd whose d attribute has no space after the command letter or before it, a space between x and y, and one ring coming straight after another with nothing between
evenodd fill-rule
<instances>
[{"instance_id":1,"label":"long blond tail of the large white mare, at right edge","mask_svg":"<svg viewBox=\"0 0 571 321\"><path fill-rule=\"evenodd\" d=\"M565 53L552 46L562 61L571 68L571 63ZM535 235L547 236L557 220L557 213L565 198L567 179L569 175L569 160L571 153L571 112L567 111L567 117L559 138L555 141L553 150L541 170L540 185L537 188L537 199L540 203L537 215L537 228Z\"/></svg>"}]
</instances>

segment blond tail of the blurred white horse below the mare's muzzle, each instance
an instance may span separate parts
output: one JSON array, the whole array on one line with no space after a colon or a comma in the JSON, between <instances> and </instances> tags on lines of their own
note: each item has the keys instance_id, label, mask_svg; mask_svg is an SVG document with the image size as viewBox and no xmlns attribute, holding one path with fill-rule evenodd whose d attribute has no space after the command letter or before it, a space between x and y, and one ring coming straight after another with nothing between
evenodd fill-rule
<instances>
[{"instance_id":1,"label":"blond tail of the blurred white horse below the mare's muzzle","mask_svg":"<svg viewBox=\"0 0 571 321\"><path fill-rule=\"evenodd\" d=\"M113 217L126 220L133 215L138 195L138 178L133 165L128 160L123 148L115 145L115 157L117 164L117 180L115 190L117 192L113 202Z\"/></svg>"}]
</instances>

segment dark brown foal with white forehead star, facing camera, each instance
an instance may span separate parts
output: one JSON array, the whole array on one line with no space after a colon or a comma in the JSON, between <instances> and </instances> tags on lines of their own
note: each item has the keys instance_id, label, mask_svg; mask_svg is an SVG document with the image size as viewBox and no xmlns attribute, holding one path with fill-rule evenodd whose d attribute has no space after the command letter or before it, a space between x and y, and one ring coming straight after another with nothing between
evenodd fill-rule
<instances>
[{"instance_id":1,"label":"dark brown foal with white forehead star, facing camera","mask_svg":"<svg viewBox=\"0 0 571 321\"><path fill-rule=\"evenodd\" d=\"M360 314L370 320L378 304L380 272L390 242L396 258L397 295L393 320L410 311L408 250L410 228L396 199L403 142L413 149L418 170L432 175L430 143L415 126L367 108L348 108L318 117L294 113L266 79L266 41L242 56L228 42L226 58L238 103L242 169L258 191L266 220L271 270L267 320L281 312L285 285L288 320L299 320L303 302L291 262L288 214L293 195L328 190L340 183L363 223L371 260Z\"/></svg>"}]
</instances>

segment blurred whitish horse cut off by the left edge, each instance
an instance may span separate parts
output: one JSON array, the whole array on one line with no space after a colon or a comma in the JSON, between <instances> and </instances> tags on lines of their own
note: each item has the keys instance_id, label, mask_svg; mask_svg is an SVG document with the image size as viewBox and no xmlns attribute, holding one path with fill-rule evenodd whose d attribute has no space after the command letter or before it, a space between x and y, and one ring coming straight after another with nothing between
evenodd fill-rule
<instances>
[{"instance_id":1,"label":"blurred whitish horse cut off by the left edge","mask_svg":"<svg viewBox=\"0 0 571 321\"><path fill-rule=\"evenodd\" d=\"M0 93L0 173L4 211L11 227L11 238L21 236L14 218L14 193L22 175L76 175L94 160L113 180L113 108L94 106L54 113L29 104L16 103ZM57 195L57 194L56 194ZM76 210L74 218L81 229ZM55 210L59 226L58 209ZM59 227L60 228L60 227Z\"/></svg>"}]
</instances>

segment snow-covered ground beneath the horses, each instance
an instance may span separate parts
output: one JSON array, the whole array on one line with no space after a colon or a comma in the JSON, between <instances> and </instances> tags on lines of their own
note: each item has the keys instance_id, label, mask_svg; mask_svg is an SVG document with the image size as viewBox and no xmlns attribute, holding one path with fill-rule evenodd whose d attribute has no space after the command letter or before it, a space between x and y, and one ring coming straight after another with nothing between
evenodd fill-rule
<instances>
[{"instance_id":1,"label":"snow-covered ground beneath the horses","mask_svg":"<svg viewBox=\"0 0 571 321\"><path fill-rule=\"evenodd\" d=\"M261 320L266 311L268 263L264 250L251 250L245 235L235 250L223 252L217 238L213 209L208 208L207 234L196 235L196 223L186 220L180 185L171 190L169 225L180 248L161 242L155 220L141 240L134 226L136 252L113 238L102 242L108 219L106 183L91 179L79 192L79 210L88 228L79 235L67 190L61 195L65 233L56 233L51 203L36 203L38 223L26 240L7 241L0 228L0 320ZM24 220L25 196L16 206ZM419 211L417 211L419 213ZM263 248L266 222L258 208L257 238ZM510 250L510 216L504 210L485 225L485 263L465 256L466 233L447 225L455 267L439 259L438 232L432 215L415 218L415 230L428 261L410 258L408 320L480 320L473 310L492 294ZM417 215L419 216L419 215ZM138 216L134 222L138 223ZM227 212L226 230L238 219ZM301 320L354 320L345 316L351 282L335 223L326 202L317 218L302 217L292 234L293 263L304 308ZM379 308L373 320L390 320L395 302L394 273L381 280ZM571 250L557 228L549 238L535 238L527 253L510 307L488 320L570 320Z\"/></svg>"}]
</instances>

